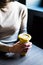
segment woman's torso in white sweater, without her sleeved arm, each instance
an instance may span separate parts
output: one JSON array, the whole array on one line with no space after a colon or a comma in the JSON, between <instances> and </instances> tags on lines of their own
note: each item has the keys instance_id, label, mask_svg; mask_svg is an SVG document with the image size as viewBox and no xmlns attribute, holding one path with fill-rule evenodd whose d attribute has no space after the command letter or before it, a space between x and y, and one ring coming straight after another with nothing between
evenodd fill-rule
<instances>
[{"instance_id":1,"label":"woman's torso in white sweater, without her sleeved arm","mask_svg":"<svg viewBox=\"0 0 43 65\"><path fill-rule=\"evenodd\" d=\"M14 4L11 2L6 12L0 10L0 41L16 41L20 25L19 6L17 6L16 2Z\"/></svg>"}]
</instances>

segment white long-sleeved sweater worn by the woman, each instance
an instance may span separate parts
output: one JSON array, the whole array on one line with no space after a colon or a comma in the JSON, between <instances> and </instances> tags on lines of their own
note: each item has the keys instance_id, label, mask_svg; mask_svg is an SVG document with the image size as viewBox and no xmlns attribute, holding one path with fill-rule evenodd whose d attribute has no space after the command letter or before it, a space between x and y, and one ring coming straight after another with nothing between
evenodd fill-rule
<instances>
[{"instance_id":1,"label":"white long-sleeved sweater worn by the woman","mask_svg":"<svg viewBox=\"0 0 43 65\"><path fill-rule=\"evenodd\" d=\"M18 33L26 31L27 8L25 5L14 1L7 5L7 8L0 10L0 42L14 42Z\"/></svg>"}]
</instances>

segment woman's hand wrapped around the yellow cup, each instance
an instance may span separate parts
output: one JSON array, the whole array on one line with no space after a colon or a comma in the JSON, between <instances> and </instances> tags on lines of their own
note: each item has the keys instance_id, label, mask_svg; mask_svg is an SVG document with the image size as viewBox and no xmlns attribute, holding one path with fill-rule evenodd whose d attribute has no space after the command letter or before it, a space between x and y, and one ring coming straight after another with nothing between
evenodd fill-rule
<instances>
[{"instance_id":1,"label":"woman's hand wrapped around the yellow cup","mask_svg":"<svg viewBox=\"0 0 43 65\"><path fill-rule=\"evenodd\" d=\"M32 47L31 42L21 44L20 41L18 41L16 44L12 46L11 52L19 54L26 53L28 49L30 49L31 47Z\"/></svg>"}]
</instances>

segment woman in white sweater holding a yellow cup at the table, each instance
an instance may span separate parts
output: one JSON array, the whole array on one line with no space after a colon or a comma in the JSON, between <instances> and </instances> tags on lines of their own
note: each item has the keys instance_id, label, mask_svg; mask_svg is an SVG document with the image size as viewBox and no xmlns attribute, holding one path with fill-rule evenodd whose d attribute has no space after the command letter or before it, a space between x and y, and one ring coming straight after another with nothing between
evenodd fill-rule
<instances>
[{"instance_id":1,"label":"woman in white sweater holding a yellow cup at the table","mask_svg":"<svg viewBox=\"0 0 43 65\"><path fill-rule=\"evenodd\" d=\"M27 52L31 42L21 44L17 41L19 31L27 33L26 6L12 0L0 0L0 52Z\"/></svg>"}]
</instances>

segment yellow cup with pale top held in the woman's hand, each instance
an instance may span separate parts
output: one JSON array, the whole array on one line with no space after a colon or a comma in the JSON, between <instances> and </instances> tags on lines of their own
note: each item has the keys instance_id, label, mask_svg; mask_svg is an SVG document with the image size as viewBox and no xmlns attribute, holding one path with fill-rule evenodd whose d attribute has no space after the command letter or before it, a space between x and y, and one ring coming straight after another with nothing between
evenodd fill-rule
<instances>
[{"instance_id":1,"label":"yellow cup with pale top held in the woman's hand","mask_svg":"<svg viewBox=\"0 0 43 65\"><path fill-rule=\"evenodd\" d=\"M30 34L19 34L18 36L20 43L26 43L31 40L31 35ZM21 54L22 56L25 56L25 53Z\"/></svg>"}]
</instances>

